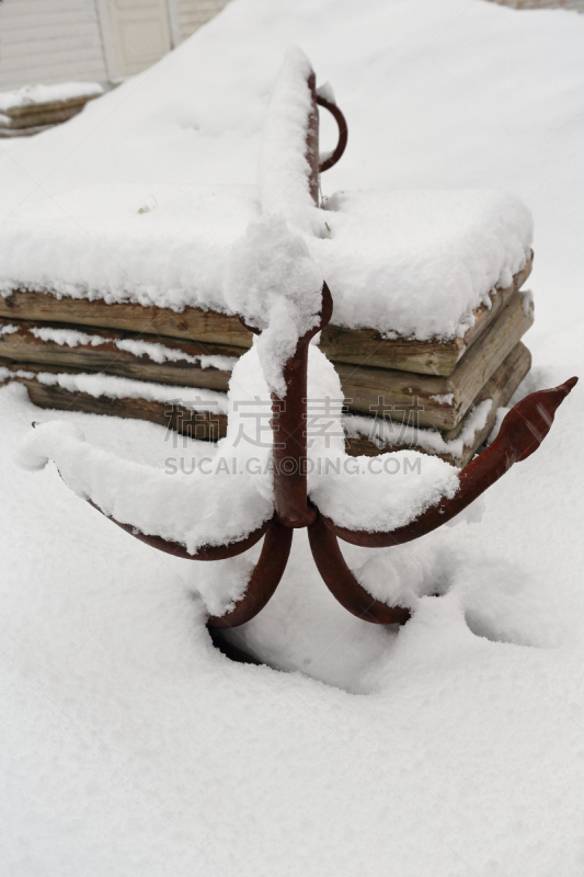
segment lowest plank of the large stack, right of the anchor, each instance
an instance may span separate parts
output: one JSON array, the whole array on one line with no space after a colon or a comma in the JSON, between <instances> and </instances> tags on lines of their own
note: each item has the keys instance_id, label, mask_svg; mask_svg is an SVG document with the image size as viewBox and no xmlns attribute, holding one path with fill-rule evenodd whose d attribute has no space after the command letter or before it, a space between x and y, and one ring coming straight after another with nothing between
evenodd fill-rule
<instances>
[{"instance_id":1,"label":"lowest plank of the large stack, right of the anchor","mask_svg":"<svg viewBox=\"0 0 584 877\"><path fill-rule=\"evenodd\" d=\"M497 409L508 403L513 394L525 378L530 367L531 354L525 344L519 342L486 381L485 386L474 400L474 406L480 405L480 402L486 399L493 400L493 405L489 411L484 426L474 432L471 441L467 441L465 443L461 454L455 455L451 452L443 452L436 453L435 455L454 466L458 466L460 468L466 466L488 438L495 424ZM468 419L471 417L472 411L469 411L454 430L443 433L442 436L444 441L451 442L453 440L457 438L460 432L465 429ZM371 429L374 429L374 424L375 421L371 418ZM413 442L412 444L406 445L406 447L413 451L419 451L422 454L431 453L427 447L424 446L424 444L420 443L420 441ZM373 457L391 451L402 451L404 445L398 442L387 442L380 447L378 444L371 441L371 438L369 438L365 432L359 435L348 435L346 438L346 451L347 454L351 454L352 456L364 455Z\"/></svg>"}]
</instances>

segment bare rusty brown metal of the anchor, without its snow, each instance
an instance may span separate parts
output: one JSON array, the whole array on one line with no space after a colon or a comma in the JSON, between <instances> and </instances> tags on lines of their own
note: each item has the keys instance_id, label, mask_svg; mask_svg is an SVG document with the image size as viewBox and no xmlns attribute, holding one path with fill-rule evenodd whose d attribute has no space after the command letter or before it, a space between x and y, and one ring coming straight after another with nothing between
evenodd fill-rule
<instances>
[{"instance_id":1,"label":"bare rusty brown metal of the anchor, without its snow","mask_svg":"<svg viewBox=\"0 0 584 877\"><path fill-rule=\"evenodd\" d=\"M310 193L318 204L319 171L327 170L339 160L345 148L347 135L346 122L336 105L323 98L317 98L313 75L308 84L312 93L312 110L308 124L306 157L311 169ZM336 149L320 168L317 101L333 113L340 132ZM378 533L350 531L322 516L309 502L307 491L308 348L310 339L329 323L332 309L332 296L324 283L319 324L299 339L295 354L284 367L285 397L272 396L274 516L270 522L244 539L221 546L204 546L195 555L190 555L179 543L168 542L159 536L148 536L128 524L114 521L127 533L153 548L191 560L236 557L255 545L265 534L260 559L252 572L245 594L231 612L209 618L209 628L213 629L218 642L217 637L221 628L244 624L261 612L270 601L286 569L294 531L298 527L308 527L310 548L317 568L325 585L341 605L353 615L373 624L404 624L410 617L410 611L403 606L389 606L376 600L359 584L342 555L337 537L354 545L379 548L416 539L442 526L488 490L511 466L537 451L551 428L558 407L577 381L577 378L571 378L560 387L534 392L518 402L505 417L499 436L492 445L461 470L459 490L451 499L443 499L406 526L394 531ZM244 322L243 324L245 326ZM255 333L259 332L253 327L247 326L247 328ZM238 651L236 647L229 646L229 649Z\"/></svg>"}]
</instances>

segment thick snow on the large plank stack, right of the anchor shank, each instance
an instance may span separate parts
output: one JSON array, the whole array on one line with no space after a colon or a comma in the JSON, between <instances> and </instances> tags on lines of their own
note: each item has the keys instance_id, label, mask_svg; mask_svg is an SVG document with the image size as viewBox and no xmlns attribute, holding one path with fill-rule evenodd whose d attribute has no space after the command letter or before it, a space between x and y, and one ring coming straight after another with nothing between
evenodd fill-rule
<instances>
[{"instance_id":1,"label":"thick snow on the large plank stack, right of the anchor shank","mask_svg":"<svg viewBox=\"0 0 584 877\"><path fill-rule=\"evenodd\" d=\"M339 192L311 251L334 291L334 322L420 340L463 334L529 257L533 219L505 192Z\"/></svg>"}]
</instances>

